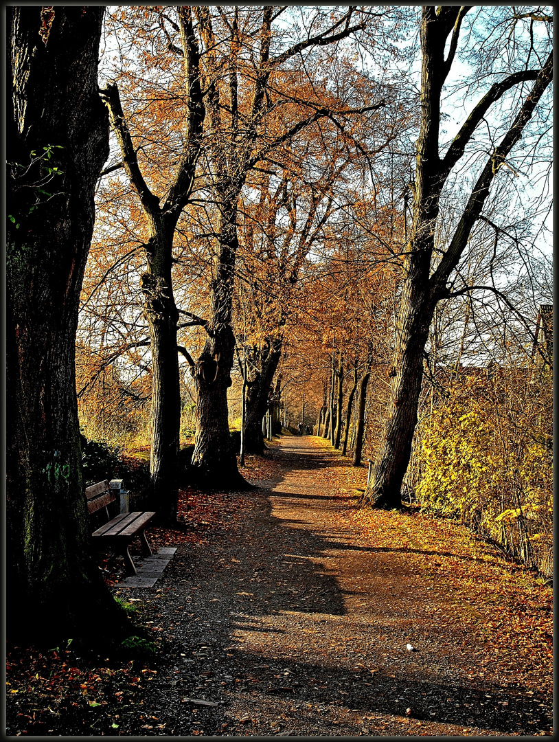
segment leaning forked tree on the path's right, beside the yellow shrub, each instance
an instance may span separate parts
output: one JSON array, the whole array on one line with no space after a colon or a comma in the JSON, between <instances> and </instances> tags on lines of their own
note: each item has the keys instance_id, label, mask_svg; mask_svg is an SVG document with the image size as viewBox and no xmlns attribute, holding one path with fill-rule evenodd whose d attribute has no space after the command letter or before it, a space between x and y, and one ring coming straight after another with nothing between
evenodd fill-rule
<instances>
[{"instance_id":1,"label":"leaning forked tree on the path's right, beside the yellow shrub","mask_svg":"<svg viewBox=\"0 0 559 742\"><path fill-rule=\"evenodd\" d=\"M409 464L411 443L417 424L417 404L423 376L423 350L435 306L448 297L446 284L462 255L474 223L480 217L489 188L526 123L552 80L552 54L540 70L523 70L495 82L475 105L454 137L444 157L439 156L441 91L452 66L460 35L460 24L469 7L423 7L420 41L423 53L421 72L421 123L417 139L416 182L413 222L403 264L403 290L397 321L397 347L390 371L391 392L388 418L371 482L364 502L377 508L400 508L403 477ZM452 34L452 36L451 36ZM447 39L450 38L445 57ZM435 223L443 185L463 156L467 142L489 106L521 82L535 80L523 99L509 131L494 147L475 183L462 217L437 268L431 274Z\"/></svg>"}]
</instances>

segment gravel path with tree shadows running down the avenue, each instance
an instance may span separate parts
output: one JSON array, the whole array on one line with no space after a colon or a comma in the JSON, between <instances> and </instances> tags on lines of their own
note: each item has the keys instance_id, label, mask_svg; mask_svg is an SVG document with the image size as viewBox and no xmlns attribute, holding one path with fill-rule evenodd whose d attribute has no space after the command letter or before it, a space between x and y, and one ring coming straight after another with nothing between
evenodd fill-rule
<instances>
[{"instance_id":1,"label":"gravel path with tree shadows running down the avenue","mask_svg":"<svg viewBox=\"0 0 559 742\"><path fill-rule=\"evenodd\" d=\"M242 493L248 507L208 545L182 545L155 594L126 591L169 643L142 721L123 709L120 734L549 733L549 709L481 677L491 647L448 588L351 528L347 493L328 487L344 459L311 437L267 455L277 481Z\"/></svg>"}]
</instances>

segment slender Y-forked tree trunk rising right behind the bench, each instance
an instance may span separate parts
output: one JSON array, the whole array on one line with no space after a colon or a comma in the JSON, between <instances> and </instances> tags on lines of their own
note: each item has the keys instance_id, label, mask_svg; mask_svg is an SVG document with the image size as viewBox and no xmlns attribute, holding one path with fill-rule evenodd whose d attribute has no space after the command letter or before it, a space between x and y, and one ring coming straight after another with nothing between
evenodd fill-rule
<instances>
[{"instance_id":1,"label":"slender Y-forked tree trunk rising right behind the bench","mask_svg":"<svg viewBox=\"0 0 559 742\"><path fill-rule=\"evenodd\" d=\"M145 244L148 269L140 278L144 312L150 332L152 364L151 486L145 506L156 510L159 522L173 522L178 504L176 467L180 442L180 387L176 332L179 311L173 296L171 277L173 237L176 223L192 191L205 118L199 82L199 49L193 34L191 11L189 7L180 7L178 13L188 114L184 122L185 145L182 157L162 206L159 205L159 197L148 188L140 171L118 88L110 84L101 91L110 114L110 125L119 142L126 174L142 203L148 226L149 238ZM177 51L181 50L177 48ZM188 324L203 322L193 318ZM191 361L185 349L182 352Z\"/></svg>"}]
</instances>

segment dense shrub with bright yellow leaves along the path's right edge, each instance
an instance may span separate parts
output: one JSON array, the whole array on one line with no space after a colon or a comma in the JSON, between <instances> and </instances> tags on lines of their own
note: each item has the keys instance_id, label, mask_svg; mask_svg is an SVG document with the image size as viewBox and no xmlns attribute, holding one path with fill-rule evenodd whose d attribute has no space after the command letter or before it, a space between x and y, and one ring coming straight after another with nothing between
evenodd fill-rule
<instances>
[{"instance_id":1,"label":"dense shrub with bright yellow leaves along the path's right edge","mask_svg":"<svg viewBox=\"0 0 559 742\"><path fill-rule=\"evenodd\" d=\"M417 431L423 508L552 574L552 372L470 369Z\"/></svg>"}]
</instances>

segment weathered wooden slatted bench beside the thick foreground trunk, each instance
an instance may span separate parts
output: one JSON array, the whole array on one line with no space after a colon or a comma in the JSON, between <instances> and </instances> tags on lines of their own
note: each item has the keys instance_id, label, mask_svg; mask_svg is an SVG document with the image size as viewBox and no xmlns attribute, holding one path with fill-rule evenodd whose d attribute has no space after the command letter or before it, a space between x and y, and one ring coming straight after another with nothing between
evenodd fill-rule
<instances>
[{"instance_id":1,"label":"weathered wooden slatted bench beside the thick foreground trunk","mask_svg":"<svg viewBox=\"0 0 559 742\"><path fill-rule=\"evenodd\" d=\"M134 536L139 536L142 554L145 557L151 555L151 548L148 539L145 537L145 527L153 518L155 513L149 510L145 512L128 513L128 493L120 498L121 512L115 518L110 518L108 505L116 502L117 493L122 495L122 479L112 479L110 482L105 479L103 482L97 482L96 485L86 487L85 496L87 497L87 509L90 515L96 513L101 508L107 512L108 522L93 531L93 545L102 548L104 551L113 551L116 554L122 554L125 559L125 568L127 574L136 574L136 567L130 557L128 546ZM123 512L124 510L124 512Z\"/></svg>"}]
</instances>

